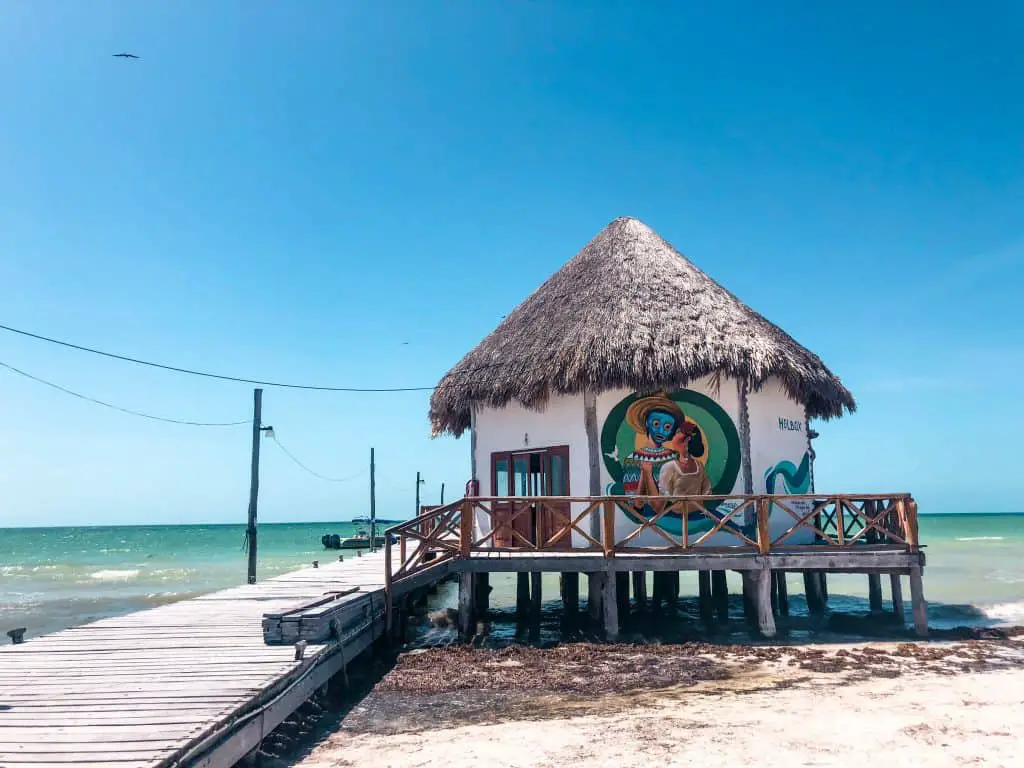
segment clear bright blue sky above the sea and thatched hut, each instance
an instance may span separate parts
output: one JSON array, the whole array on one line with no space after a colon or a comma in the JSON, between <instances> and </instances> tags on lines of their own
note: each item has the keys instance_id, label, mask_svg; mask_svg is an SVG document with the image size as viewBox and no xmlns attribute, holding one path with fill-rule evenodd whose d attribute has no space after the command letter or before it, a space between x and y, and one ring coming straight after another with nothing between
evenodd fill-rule
<instances>
[{"instance_id":1,"label":"clear bright blue sky above the sea and thatched hut","mask_svg":"<svg viewBox=\"0 0 1024 768\"><path fill-rule=\"evenodd\" d=\"M0 323L246 377L430 386L633 215L853 390L858 413L818 425L819 489L1019 511L1021 8L13 0ZM0 361L154 414L251 415L246 385L6 333ZM468 440L431 440L427 400L268 389L285 445L360 476L264 443L262 519L366 513L370 445L381 514L412 512L417 470L453 498ZM0 525L245 519L246 426L5 372L0 413Z\"/></svg>"}]
</instances>

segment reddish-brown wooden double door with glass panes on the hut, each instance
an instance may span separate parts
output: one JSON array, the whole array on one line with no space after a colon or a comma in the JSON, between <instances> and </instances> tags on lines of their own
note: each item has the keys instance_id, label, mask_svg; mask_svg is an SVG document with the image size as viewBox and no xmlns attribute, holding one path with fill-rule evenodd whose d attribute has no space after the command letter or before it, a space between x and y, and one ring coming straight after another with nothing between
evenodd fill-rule
<instances>
[{"instance_id":1,"label":"reddish-brown wooden double door with glass panes on the hut","mask_svg":"<svg viewBox=\"0 0 1024 768\"><path fill-rule=\"evenodd\" d=\"M526 540L546 549L571 549L570 534L550 544L569 522L568 502L515 501L516 497L569 495L568 445L492 454L490 467L494 495L509 499L494 505L495 545L522 547Z\"/></svg>"}]
</instances>

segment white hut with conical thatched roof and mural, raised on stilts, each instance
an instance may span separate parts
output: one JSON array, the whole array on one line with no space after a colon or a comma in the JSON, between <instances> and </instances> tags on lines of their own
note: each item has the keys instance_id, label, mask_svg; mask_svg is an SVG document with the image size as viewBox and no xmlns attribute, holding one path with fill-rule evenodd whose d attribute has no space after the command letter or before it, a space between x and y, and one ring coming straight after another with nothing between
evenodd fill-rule
<instances>
[{"instance_id":1,"label":"white hut with conical thatched roof and mural, raised on stilts","mask_svg":"<svg viewBox=\"0 0 1024 768\"><path fill-rule=\"evenodd\" d=\"M840 569L909 573L923 562L909 496L809 495L809 421L854 409L817 355L644 223L620 218L440 381L433 430L469 431L473 479L451 505L458 530L455 512L438 519L467 563L507 550L515 569L571 572L583 560L566 556L600 553L590 602L612 634L628 570L669 574L655 579L655 601L678 595L679 570L705 571L710 615L726 567L749 577L752 615L771 634L771 585L776 609L784 600L773 569L808 571L814 592L811 566L823 561L812 554L824 549L913 555ZM639 602L646 580L634 585Z\"/></svg>"}]
</instances>

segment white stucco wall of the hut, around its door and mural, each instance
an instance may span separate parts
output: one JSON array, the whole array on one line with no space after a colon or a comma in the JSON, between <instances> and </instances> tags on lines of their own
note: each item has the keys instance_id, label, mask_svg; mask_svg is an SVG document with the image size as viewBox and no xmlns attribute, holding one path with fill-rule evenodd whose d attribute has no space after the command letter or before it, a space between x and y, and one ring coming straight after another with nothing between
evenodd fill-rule
<instances>
[{"instance_id":1,"label":"white stucco wall of the hut, around its door and mural","mask_svg":"<svg viewBox=\"0 0 1024 768\"><path fill-rule=\"evenodd\" d=\"M739 432L739 394L735 380L723 378L719 387L714 387L711 380L703 379L691 382L687 389L703 394L726 413ZM604 428L605 421L612 410L631 394L628 390L602 392L597 396L598 435ZM793 488L788 480L797 477L802 459L807 451L807 424L804 422L803 406L792 401L775 380L769 380L760 390L752 391L748 397L751 425L751 463L753 473L753 492L766 493L766 472L769 469L779 470L774 474L775 493L788 494L800 490ZM577 396L552 397L544 411L532 411L518 403L510 403L503 409L479 409L475 415L476 422L476 468L480 482L480 495L493 496L492 487L492 455L539 447L567 445L569 449L569 494L572 496L589 496L590 493L590 455L587 441L587 431L584 424L584 398ZM779 467L780 462L790 465ZM601 493L609 493L612 483L611 474L601 457ZM726 493L743 493L742 469L737 472L736 479L730 490ZM582 511L582 506L573 514ZM800 513L799 509L794 511ZM793 517L783 510L773 508L771 515L772 535L778 536L793 523ZM478 526L488 529L483 516L478 516ZM584 525L586 528L587 526ZM616 516L617 537L628 536L636 528L636 523L623 512ZM699 536L699 535L698 535ZM806 543L809 535L794 535L787 543ZM717 534L710 538L706 546L730 546L736 543L736 538L730 534ZM645 531L634 540L638 546L659 546L667 542L657 534ZM579 535L573 536L574 546L584 546L585 540Z\"/></svg>"}]
</instances>

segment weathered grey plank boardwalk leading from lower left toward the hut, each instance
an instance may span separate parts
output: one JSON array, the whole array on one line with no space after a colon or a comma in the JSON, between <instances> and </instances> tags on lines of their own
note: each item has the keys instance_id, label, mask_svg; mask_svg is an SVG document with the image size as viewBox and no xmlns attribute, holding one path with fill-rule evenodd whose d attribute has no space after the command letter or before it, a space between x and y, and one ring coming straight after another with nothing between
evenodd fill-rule
<instances>
[{"instance_id":1,"label":"weathered grey plank boardwalk leading from lower left toward the hut","mask_svg":"<svg viewBox=\"0 0 1024 768\"><path fill-rule=\"evenodd\" d=\"M339 646L264 643L262 618L331 591L379 601ZM0 646L0 766L232 765L384 628L381 553Z\"/></svg>"}]
</instances>

